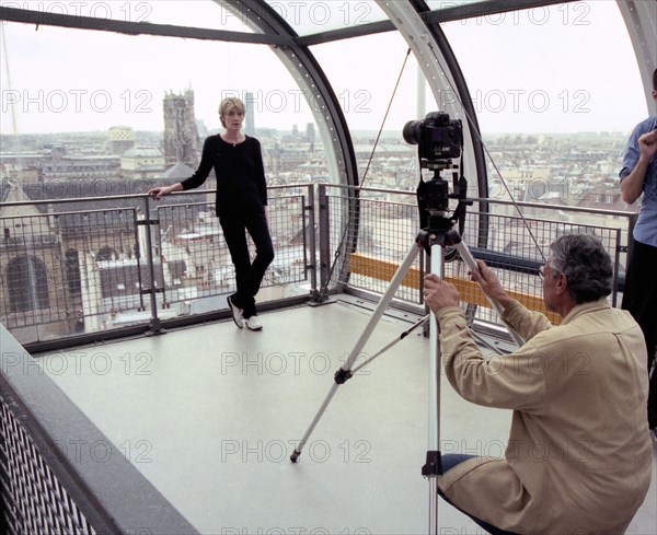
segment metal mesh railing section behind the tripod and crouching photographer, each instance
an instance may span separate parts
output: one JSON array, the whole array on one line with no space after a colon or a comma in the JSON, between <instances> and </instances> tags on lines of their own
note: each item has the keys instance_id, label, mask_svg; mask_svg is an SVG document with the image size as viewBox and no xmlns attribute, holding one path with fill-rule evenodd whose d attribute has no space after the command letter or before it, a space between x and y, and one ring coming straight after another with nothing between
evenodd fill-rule
<instances>
[{"instance_id":1,"label":"metal mesh railing section behind the tripod and crouching photographer","mask_svg":"<svg viewBox=\"0 0 657 535\"><path fill-rule=\"evenodd\" d=\"M321 206L328 207L328 213L321 218L326 226L320 240L321 265L326 271L323 287L355 294L382 294L420 231L415 193L326 185L320 188L320 199ZM496 268L503 286L530 307L544 312L539 268L545 263L552 241L567 233L589 233L601 240L613 261L610 300L613 305L620 303L635 213L472 200L473 207L464 219L464 243L475 258ZM426 264L424 255L415 260L410 277L395 295L399 306L424 310L422 276ZM446 276L453 281L465 281L468 268L456 257L446 264ZM472 306L485 302L476 288L462 283L460 290L463 306L473 318L502 325L487 306Z\"/></svg>"}]
</instances>

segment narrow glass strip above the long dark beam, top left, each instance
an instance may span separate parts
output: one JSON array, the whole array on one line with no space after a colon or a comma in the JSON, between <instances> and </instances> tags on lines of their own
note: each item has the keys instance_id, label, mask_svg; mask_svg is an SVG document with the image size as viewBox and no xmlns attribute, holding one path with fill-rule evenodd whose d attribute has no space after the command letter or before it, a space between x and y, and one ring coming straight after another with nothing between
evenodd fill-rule
<instances>
[{"instance_id":1,"label":"narrow glass strip above the long dark beam, top left","mask_svg":"<svg viewBox=\"0 0 657 535\"><path fill-rule=\"evenodd\" d=\"M212 0L185 0L184 2L171 0L123 0L120 2L21 0L20 2L3 2L3 5L37 11L39 16L46 21L49 16L66 14L100 20L251 32L242 16L231 13Z\"/></svg>"}]
</instances>

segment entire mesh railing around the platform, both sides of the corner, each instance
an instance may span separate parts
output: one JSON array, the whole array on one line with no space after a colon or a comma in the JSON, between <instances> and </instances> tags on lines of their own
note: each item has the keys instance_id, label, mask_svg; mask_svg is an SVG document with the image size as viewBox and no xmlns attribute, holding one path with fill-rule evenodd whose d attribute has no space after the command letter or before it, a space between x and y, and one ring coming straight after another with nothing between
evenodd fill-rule
<instances>
[{"instance_id":1,"label":"entire mesh railing around the platform, both sides of the corner","mask_svg":"<svg viewBox=\"0 0 657 535\"><path fill-rule=\"evenodd\" d=\"M44 350L228 317L234 272L214 195L186 191L158 203L146 195L4 203L13 213L0 218L0 322L28 349ZM595 234L614 260L615 305L633 218L473 199L463 240L475 258L498 269L507 289L541 310L538 268L550 243L564 233ZM326 184L269 188L268 220L276 258L258 294L264 307L338 292L377 299L419 231L414 193ZM425 263L419 255L396 305L424 310ZM446 276L465 280L466 267L457 258ZM481 304L475 289L461 291L468 304ZM485 306L470 307L473 317L499 323Z\"/></svg>"}]
</instances>

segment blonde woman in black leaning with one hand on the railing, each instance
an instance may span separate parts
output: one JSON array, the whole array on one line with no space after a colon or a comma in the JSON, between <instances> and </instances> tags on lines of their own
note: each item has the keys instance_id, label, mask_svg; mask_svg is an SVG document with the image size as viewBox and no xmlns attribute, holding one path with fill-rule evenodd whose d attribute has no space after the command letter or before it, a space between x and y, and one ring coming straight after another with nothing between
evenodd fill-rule
<instances>
[{"instance_id":1,"label":"blonde woman in black leaning with one hand on the railing","mask_svg":"<svg viewBox=\"0 0 657 535\"><path fill-rule=\"evenodd\" d=\"M233 321L240 328L261 330L255 295L269 264L274 246L267 224L267 184L260 141L242 133L246 108L240 98L228 97L219 105L222 133L205 140L200 163L188 178L148 193L155 199L172 191L200 186L215 167L217 175L216 213L235 267L237 292L227 298ZM245 231L255 244L253 263Z\"/></svg>"}]
</instances>

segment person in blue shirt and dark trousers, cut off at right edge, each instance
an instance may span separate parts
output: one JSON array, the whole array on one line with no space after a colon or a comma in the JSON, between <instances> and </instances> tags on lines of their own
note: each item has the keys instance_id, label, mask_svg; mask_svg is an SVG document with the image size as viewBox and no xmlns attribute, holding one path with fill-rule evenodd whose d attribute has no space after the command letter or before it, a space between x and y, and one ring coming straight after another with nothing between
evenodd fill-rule
<instances>
[{"instance_id":1,"label":"person in blue shirt and dark trousers, cut off at right edge","mask_svg":"<svg viewBox=\"0 0 657 535\"><path fill-rule=\"evenodd\" d=\"M657 103L657 69L653 72L653 98ZM646 337L648 369L657 364L657 115L634 128L623 159L621 196L633 205L643 194L634 244L627 258L622 309L630 311ZM657 371L648 393L648 424L657 437Z\"/></svg>"}]
</instances>

